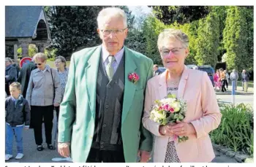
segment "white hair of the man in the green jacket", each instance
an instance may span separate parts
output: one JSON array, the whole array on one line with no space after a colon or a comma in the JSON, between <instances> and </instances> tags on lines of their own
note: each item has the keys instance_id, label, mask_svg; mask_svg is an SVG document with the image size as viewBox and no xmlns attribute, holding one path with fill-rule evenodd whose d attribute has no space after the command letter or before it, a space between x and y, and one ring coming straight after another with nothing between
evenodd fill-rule
<instances>
[{"instance_id":1,"label":"white hair of the man in the green jacket","mask_svg":"<svg viewBox=\"0 0 256 167\"><path fill-rule=\"evenodd\" d=\"M97 18L98 28L103 28L106 21L108 21L110 18L123 18L124 28L127 28L127 15L125 14L124 10L118 7L107 7L99 12Z\"/></svg>"}]
</instances>

